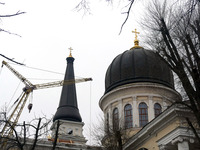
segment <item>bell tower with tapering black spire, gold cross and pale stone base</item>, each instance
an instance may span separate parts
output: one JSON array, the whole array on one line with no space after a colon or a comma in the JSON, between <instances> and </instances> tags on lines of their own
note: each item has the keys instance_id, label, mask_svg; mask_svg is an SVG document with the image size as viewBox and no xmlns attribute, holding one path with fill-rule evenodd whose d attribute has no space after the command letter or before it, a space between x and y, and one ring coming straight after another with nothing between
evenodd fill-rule
<instances>
[{"instance_id":1,"label":"bell tower with tapering black spire, gold cross and pale stone base","mask_svg":"<svg viewBox=\"0 0 200 150\"><path fill-rule=\"evenodd\" d=\"M67 68L64 80L74 80L74 58L67 57ZM53 118L52 138L57 134L57 141L63 143L85 144L86 139L82 134L84 123L79 113L75 83L63 85L60 103ZM53 140L52 139L52 140Z\"/></svg>"}]
</instances>

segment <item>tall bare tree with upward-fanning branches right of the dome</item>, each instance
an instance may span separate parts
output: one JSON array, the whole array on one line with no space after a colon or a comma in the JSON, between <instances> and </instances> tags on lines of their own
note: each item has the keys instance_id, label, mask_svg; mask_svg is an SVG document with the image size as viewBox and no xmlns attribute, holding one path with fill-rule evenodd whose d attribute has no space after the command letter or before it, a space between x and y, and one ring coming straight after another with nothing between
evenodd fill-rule
<instances>
[{"instance_id":1,"label":"tall bare tree with upward-fanning branches right of the dome","mask_svg":"<svg viewBox=\"0 0 200 150\"><path fill-rule=\"evenodd\" d=\"M144 20L148 46L178 76L187 95L182 104L193 112L200 127L200 1L161 4L153 0ZM192 121L188 123L192 126Z\"/></svg>"}]
</instances>

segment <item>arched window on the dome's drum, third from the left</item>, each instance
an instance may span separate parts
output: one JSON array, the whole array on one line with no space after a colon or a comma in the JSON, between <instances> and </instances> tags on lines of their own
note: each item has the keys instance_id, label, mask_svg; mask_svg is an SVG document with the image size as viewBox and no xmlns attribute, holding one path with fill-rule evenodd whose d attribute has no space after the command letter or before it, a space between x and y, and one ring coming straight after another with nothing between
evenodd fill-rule
<instances>
[{"instance_id":1,"label":"arched window on the dome's drum, third from the left","mask_svg":"<svg viewBox=\"0 0 200 150\"><path fill-rule=\"evenodd\" d=\"M147 104L144 102L139 104L139 120L140 120L140 127L143 127L148 123L148 109Z\"/></svg>"}]
</instances>

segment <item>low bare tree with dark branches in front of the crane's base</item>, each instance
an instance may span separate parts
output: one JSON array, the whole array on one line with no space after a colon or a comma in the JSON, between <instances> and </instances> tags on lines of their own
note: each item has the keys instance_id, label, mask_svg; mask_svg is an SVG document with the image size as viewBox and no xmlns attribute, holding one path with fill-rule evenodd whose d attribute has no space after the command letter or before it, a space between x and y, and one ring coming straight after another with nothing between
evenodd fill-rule
<instances>
[{"instance_id":1,"label":"low bare tree with dark branches in front of the crane's base","mask_svg":"<svg viewBox=\"0 0 200 150\"><path fill-rule=\"evenodd\" d=\"M51 120L46 119L46 117L36 118L30 123L25 123L24 121L23 124L18 123L15 128L13 128L12 124L6 119L5 113L2 114L0 118L1 128L3 128L2 126L4 126L5 123L8 123L10 125L9 130L12 130L13 134L12 136L7 136L7 134L5 134L7 131L4 131L4 133L2 133L2 131L0 132L1 149L18 148L23 150L27 140L31 140L31 150L34 150L38 140L49 134L48 125L51 123Z\"/></svg>"}]
</instances>

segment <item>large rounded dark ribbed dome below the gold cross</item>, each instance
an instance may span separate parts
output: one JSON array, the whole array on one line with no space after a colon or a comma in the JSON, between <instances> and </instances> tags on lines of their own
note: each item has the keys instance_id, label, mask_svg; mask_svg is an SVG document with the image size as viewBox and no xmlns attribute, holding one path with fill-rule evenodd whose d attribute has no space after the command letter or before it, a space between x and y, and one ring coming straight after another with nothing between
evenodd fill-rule
<instances>
[{"instance_id":1,"label":"large rounded dark ribbed dome below the gold cross","mask_svg":"<svg viewBox=\"0 0 200 150\"><path fill-rule=\"evenodd\" d=\"M160 83L174 88L171 69L153 51L134 48L115 57L107 69L105 93L136 82Z\"/></svg>"}]
</instances>

